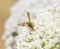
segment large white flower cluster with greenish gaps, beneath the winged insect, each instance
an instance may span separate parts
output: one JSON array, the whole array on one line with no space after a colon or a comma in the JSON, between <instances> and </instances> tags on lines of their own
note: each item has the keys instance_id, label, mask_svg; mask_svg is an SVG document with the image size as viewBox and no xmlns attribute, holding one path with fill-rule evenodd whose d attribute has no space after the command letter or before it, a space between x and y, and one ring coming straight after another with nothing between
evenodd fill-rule
<instances>
[{"instance_id":1,"label":"large white flower cluster with greenish gaps, beneath the winged insect","mask_svg":"<svg viewBox=\"0 0 60 49\"><path fill-rule=\"evenodd\" d=\"M59 0L18 0L5 24L6 49L60 49ZM27 12L34 30L18 26L27 22Z\"/></svg>"}]
</instances>

